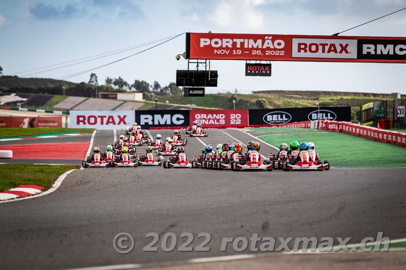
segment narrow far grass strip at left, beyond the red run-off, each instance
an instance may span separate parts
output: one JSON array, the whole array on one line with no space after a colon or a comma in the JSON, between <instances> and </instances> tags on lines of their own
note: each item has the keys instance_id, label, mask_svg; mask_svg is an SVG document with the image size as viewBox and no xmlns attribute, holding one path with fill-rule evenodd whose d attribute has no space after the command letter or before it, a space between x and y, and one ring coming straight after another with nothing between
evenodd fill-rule
<instances>
[{"instance_id":1,"label":"narrow far grass strip at left, beyond the red run-off","mask_svg":"<svg viewBox=\"0 0 406 270\"><path fill-rule=\"evenodd\" d=\"M69 129L69 128L2 128L0 138L30 137L35 135L52 133L86 133L90 134L94 129Z\"/></svg>"}]
</instances>

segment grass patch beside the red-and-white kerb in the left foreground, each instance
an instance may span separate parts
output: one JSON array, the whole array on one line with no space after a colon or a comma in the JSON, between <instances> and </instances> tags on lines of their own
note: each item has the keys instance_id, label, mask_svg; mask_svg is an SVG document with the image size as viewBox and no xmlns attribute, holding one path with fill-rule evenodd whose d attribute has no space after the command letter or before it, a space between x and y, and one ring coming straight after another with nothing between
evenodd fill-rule
<instances>
[{"instance_id":1,"label":"grass patch beside the red-and-white kerb in the left foreground","mask_svg":"<svg viewBox=\"0 0 406 270\"><path fill-rule=\"evenodd\" d=\"M39 185L48 189L59 175L80 166L0 164L0 191L18 185Z\"/></svg>"}]
</instances>

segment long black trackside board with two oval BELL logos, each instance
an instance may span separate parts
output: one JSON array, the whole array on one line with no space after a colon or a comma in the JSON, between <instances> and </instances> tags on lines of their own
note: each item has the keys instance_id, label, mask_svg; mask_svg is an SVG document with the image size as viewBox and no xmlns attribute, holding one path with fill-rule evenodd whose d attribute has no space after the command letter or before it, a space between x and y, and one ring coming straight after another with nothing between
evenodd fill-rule
<instances>
[{"instance_id":1,"label":"long black trackside board with two oval BELL logos","mask_svg":"<svg viewBox=\"0 0 406 270\"><path fill-rule=\"evenodd\" d=\"M302 121L351 121L351 107L250 109L250 125L282 125Z\"/></svg>"}]
</instances>

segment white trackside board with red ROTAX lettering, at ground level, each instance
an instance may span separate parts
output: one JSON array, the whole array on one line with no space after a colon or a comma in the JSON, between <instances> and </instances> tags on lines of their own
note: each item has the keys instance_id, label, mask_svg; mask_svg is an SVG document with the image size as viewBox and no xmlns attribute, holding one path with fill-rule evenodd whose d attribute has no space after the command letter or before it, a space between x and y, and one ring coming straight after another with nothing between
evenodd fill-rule
<instances>
[{"instance_id":1,"label":"white trackside board with red ROTAX lettering, at ground level","mask_svg":"<svg viewBox=\"0 0 406 270\"><path fill-rule=\"evenodd\" d=\"M121 129L136 122L133 110L71 110L71 128Z\"/></svg>"}]
</instances>

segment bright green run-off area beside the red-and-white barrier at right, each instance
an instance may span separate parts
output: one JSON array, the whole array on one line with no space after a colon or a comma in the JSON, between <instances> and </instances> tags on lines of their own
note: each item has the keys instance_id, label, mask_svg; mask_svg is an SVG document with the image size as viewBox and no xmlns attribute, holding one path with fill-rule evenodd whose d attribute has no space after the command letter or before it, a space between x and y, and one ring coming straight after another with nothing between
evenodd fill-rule
<instances>
[{"instance_id":1,"label":"bright green run-off area beside the red-and-white barrier at right","mask_svg":"<svg viewBox=\"0 0 406 270\"><path fill-rule=\"evenodd\" d=\"M274 128L280 129L280 128ZM301 129L303 132L309 129ZM275 130L276 131L276 130ZM280 130L278 133L287 132ZM316 145L322 161L329 160L333 167L405 167L406 148L373 141L342 132L294 133L261 136L261 140L275 146L293 140L311 141Z\"/></svg>"}]
</instances>

